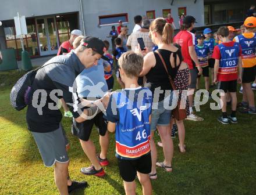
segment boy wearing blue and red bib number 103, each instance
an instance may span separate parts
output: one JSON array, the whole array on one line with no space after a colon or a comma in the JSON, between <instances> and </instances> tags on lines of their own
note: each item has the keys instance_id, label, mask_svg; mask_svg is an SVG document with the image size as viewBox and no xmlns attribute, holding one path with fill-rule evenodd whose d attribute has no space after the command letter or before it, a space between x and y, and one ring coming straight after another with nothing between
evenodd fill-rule
<instances>
[{"instance_id":1,"label":"boy wearing blue and red bib number 103","mask_svg":"<svg viewBox=\"0 0 256 195\"><path fill-rule=\"evenodd\" d=\"M215 59L214 65L214 82L218 82L218 89L221 89L222 115L218 117L218 121L226 125L237 123L236 107L237 107L237 83L241 83L241 47L237 42L230 41L229 29L220 27L217 35L221 40L221 44L215 46L212 57ZM227 93L232 99L231 114L227 115Z\"/></svg>"}]
</instances>

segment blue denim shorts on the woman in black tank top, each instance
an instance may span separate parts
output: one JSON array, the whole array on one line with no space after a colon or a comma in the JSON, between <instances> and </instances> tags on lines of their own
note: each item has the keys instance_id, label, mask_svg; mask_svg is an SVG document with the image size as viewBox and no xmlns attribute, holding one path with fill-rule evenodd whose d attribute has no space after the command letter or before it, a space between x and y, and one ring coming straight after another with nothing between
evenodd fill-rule
<instances>
[{"instance_id":1,"label":"blue denim shorts on the woman in black tank top","mask_svg":"<svg viewBox=\"0 0 256 195\"><path fill-rule=\"evenodd\" d=\"M170 124L172 110L163 107L163 101L158 102L158 109L152 109L150 130L155 131L157 125L168 126Z\"/></svg>"}]
</instances>

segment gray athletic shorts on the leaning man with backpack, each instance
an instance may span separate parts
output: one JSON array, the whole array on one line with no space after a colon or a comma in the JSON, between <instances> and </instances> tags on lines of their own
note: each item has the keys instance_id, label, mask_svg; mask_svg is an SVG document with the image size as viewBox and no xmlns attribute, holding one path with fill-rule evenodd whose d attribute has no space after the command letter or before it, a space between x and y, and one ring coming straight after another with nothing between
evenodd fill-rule
<instances>
[{"instance_id":1,"label":"gray athletic shorts on the leaning man with backpack","mask_svg":"<svg viewBox=\"0 0 256 195\"><path fill-rule=\"evenodd\" d=\"M59 163L67 163L69 161L66 151L67 139L61 124L58 129L52 132L31 133L46 167L52 167L56 161Z\"/></svg>"}]
</instances>

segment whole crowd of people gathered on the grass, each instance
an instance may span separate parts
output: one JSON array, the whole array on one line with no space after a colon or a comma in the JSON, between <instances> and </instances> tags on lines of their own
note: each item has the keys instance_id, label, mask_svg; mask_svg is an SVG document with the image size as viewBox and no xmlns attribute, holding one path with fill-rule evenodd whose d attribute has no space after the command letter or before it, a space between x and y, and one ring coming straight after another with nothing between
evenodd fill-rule
<instances>
[{"instance_id":1,"label":"whole crowd of people gathered on the grass","mask_svg":"<svg viewBox=\"0 0 256 195\"><path fill-rule=\"evenodd\" d=\"M205 28L196 35L193 16L180 16L176 35L170 15L152 22L138 15L134 23L129 37L122 21L117 30L112 26L112 52L108 41L84 37L80 30L73 30L70 39L59 48L58 56L38 70L32 89L34 94L44 89L48 96L55 89L61 90L56 96L61 99L64 116L72 118L72 133L91 162L90 167L81 168L82 174L105 175L102 167L109 164L109 132L115 132L116 157L126 194L136 193L136 176L143 194L152 194L151 180L157 179L157 167L173 171L172 138L176 132L179 151L186 153L184 120L204 120L193 111L193 96L200 89L201 75L209 98L210 88L221 90L222 114L217 119L221 124L238 122L237 107L241 113L256 114L256 17L247 17L239 31L223 26L214 34ZM143 39L144 48L138 38ZM109 92L113 89L114 72L122 90ZM242 85L240 103L237 84ZM174 90L179 90L177 97ZM169 105L175 97L182 100L183 92L188 95L182 101L187 117L180 118L172 114ZM62 114L59 109L47 107L54 103L48 96L42 114L29 104L27 124L44 164L54 166L59 193L68 194L86 187L87 182L69 178L69 142L61 125ZM42 97L37 98L40 102ZM229 104L232 111L227 114ZM90 139L94 125L99 132L99 153ZM157 145L163 149L163 160L157 157L155 131L161 138Z\"/></svg>"}]
</instances>

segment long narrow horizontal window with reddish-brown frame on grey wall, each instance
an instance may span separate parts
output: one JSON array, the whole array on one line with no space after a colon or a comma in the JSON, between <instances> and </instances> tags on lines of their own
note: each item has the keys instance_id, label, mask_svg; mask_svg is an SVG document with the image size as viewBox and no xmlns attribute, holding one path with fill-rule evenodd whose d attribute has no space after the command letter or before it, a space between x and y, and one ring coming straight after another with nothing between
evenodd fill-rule
<instances>
[{"instance_id":1,"label":"long narrow horizontal window with reddish-brown frame on grey wall","mask_svg":"<svg viewBox=\"0 0 256 195\"><path fill-rule=\"evenodd\" d=\"M122 20L123 23L127 23L128 14L120 13L118 15L99 16L99 25L118 24L119 20Z\"/></svg>"}]
</instances>

